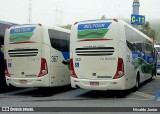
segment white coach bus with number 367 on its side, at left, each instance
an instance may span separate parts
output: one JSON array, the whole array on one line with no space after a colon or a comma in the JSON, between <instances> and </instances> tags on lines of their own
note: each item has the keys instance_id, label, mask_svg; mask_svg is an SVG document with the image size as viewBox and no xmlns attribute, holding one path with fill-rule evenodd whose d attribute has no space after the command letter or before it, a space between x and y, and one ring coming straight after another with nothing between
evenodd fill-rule
<instances>
[{"instance_id":1,"label":"white coach bus with number 367 on its side, at left","mask_svg":"<svg viewBox=\"0 0 160 114\"><path fill-rule=\"evenodd\" d=\"M70 31L38 25L13 26L5 33L5 77L9 86L70 84Z\"/></svg>"}]
</instances>

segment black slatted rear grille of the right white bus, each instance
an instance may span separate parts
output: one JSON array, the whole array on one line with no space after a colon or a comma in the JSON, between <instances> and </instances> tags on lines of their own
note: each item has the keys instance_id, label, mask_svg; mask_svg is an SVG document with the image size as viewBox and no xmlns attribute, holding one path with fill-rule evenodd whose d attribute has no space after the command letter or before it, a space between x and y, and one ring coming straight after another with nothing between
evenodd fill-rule
<instances>
[{"instance_id":1,"label":"black slatted rear grille of the right white bus","mask_svg":"<svg viewBox=\"0 0 160 114\"><path fill-rule=\"evenodd\" d=\"M113 47L76 48L78 56L106 56L113 55Z\"/></svg>"}]
</instances>

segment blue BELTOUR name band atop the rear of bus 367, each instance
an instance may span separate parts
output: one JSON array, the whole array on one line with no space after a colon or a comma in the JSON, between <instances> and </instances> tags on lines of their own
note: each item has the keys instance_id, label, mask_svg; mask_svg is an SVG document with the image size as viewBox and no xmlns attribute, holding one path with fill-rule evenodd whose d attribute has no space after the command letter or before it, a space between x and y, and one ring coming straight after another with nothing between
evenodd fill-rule
<instances>
[{"instance_id":1,"label":"blue BELTOUR name band atop the rear of bus 367","mask_svg":"<svg viewBox=\"0 0 160 114\"><path fill-rule=\"evenodd\" d=\"M19 34L25 32L33 32L36 27L14 28L10 30L10 34Z\"/></svg>"}]
</instances>

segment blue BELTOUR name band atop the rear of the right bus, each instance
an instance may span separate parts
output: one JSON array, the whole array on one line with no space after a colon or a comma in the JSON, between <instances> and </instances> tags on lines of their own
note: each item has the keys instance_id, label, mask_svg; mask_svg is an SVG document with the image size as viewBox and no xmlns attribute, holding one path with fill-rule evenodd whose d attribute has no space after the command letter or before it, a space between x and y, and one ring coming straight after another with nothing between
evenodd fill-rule
<instances>
[{"instance_id":1,"label":"blue BELTOUR name band atop the rear of the right bus","mask_svg":"<svg viewBox=\"0 0 160 114\"><path fill-rule=\"evenodd\" d=\"M108 28L110 24L111 22L80 24L78 25L78 30L103 29Z\"/></svg>"}]
</instances>

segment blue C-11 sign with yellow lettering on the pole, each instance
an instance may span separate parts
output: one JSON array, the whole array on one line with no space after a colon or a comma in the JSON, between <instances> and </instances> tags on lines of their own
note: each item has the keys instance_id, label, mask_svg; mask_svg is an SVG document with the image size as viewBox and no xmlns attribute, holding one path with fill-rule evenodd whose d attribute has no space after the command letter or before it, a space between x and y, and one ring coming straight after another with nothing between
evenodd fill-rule
<instances>
[{"instance_id":1,"label":"blue C-11 sign with yellow lettering on the pole","mask_svg":"<svg viewBox=\"0 0 160 114\"><path fill-rule=\"evenodd\" d=\"M145 16L132 14L131 15L131 24L143 25L145 23Z\"/></svg>"}]
</instances>

